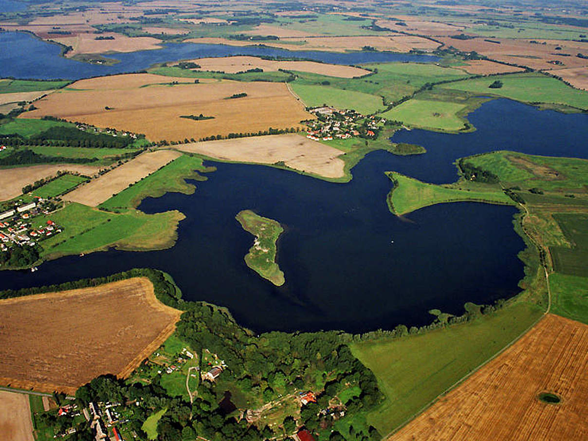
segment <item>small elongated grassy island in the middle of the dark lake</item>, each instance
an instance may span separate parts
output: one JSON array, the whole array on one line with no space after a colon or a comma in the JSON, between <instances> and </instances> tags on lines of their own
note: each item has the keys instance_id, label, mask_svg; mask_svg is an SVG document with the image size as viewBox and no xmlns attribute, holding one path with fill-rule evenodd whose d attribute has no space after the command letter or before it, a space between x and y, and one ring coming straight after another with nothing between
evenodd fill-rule
<instances>
[{"instance_id":1,"label":"small elongated grassy island in the middle of the dark lake","mask_svg":"<svg viewBox=\"0 0 588 441\"><path fill-rule=\"evenodd\" d=\"M283 285L284 273L276 263L276 242L284 230L280 223L259 216L251 210L243 210L235 218L244 230L255 236L255 242L245 256L247 266L274 285Z\"/></svg>"}]
</instances>

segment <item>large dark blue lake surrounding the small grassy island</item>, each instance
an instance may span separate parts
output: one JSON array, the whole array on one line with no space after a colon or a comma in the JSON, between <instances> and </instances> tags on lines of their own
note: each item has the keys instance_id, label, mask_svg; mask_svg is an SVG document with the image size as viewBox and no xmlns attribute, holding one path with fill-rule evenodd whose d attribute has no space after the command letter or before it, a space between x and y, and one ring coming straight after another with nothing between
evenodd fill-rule
<instances>
[{"instance_id":1,"label":"large dark blue lake surrounding the small grassy island","mask_svg":"<svg viewBox=\"0 0 588 441\"><path fill-rule=\"evenodd\" d=\"M429 309L461 313L467 301L489 303L519 292L523 264L516 255L523 241L512 226L516 209L451 203L400 220L387 209L390 182L383 173L396 170L452 182L457 157L494 149L585 158L586 118L493 101L470 116L477 132L399 133L395 140L422 143L428 152L412 157L370 153L346 184L264 166L216 163L208 181L195 183L194 195L169 193L140 206L148 213L179 209L186 214L173 248L72 256L45 263L32 274L2 272L1 285L45 285L147 266L171 273L186 299L228 306L240 323L258 331L362 332L397 323L423 325L432 319ZM557 138L553 131L559 131ZM242 209L285 226L278 246L284 286L276 288L243 262L253 236L235 220Z\"/></svg>"}]
</instances>

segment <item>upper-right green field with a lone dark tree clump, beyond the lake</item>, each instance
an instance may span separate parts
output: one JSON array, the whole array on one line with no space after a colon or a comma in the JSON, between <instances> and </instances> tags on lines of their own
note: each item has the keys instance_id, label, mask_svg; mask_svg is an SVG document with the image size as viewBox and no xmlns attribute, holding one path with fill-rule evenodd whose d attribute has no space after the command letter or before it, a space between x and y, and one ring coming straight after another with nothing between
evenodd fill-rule
<instances>
[{"instance_id":1,"label":"upper-right green field with a lone dark tree clump, beyond the lake","mask_svg":"<svg viewBox=\"0 0 588 441\"><path fill-rule=\"evenodd\" d=\"M500 89L488 86L495 80L503 83ZM496 95L529 103L554 103L577 109L588 109L588 92L579 91L563 82L540 74L513 74L467 79L437 86L481 95Z\"/></svg>"}]
</instances>

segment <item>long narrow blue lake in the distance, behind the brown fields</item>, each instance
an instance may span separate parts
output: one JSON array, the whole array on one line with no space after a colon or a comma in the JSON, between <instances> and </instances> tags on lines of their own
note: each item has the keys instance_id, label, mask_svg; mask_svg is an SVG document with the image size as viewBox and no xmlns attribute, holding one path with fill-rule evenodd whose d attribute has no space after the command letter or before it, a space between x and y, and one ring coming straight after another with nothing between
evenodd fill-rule
<instances>
[{"instance_id":1,"label":"long narrow blue lake in the distance, behind the brown fields","mask_svg":"<svg viewBox=\"0 0 588 441\"><path fill-rule=\"evenodd\" d=\"M344 65L390 61L435 62L439 59L430 55L392 54L391 52L336 54L321 51L284 51L260 46L237 47L194 43L168 44L162 49L109 55L110 58L119 60L112 66L74 61L63 58L60 54L60 46L41 41L30 34L2 32L0 33L0 77L79 79L136 72L161 62L228 55L287 56Z\"/></svg>"}]
</instances>

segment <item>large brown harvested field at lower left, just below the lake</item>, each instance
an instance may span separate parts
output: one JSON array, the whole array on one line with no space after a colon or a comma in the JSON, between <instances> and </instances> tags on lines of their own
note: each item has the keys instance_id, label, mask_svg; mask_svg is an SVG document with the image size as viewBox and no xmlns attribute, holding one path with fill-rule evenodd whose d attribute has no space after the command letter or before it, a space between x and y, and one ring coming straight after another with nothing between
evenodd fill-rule
<instances>
[{"instance_id":1,"label":"large brown harvested field at lower left, just below the lake","mask_svg":"<svg viewBox=\"0 0 588 441\"><path fill-rule=\"evenodd\" d=\"M73 394L96 376L128 376L181 311L147 278L0 300L0 384Z\"/></svg>"}]
</instances>

